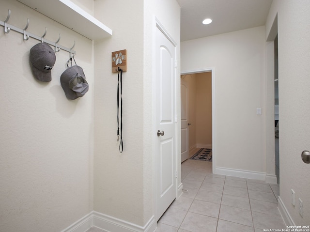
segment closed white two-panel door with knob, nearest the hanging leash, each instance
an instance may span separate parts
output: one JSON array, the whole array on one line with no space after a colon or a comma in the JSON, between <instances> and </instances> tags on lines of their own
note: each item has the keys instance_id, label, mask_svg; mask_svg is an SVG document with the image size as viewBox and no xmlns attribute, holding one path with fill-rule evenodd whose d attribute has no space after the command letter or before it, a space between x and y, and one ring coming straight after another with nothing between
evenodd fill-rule
<instances>
[{"instance_id":1,"label":"closed white two-panel door with knob, nearest the hanging leash","mask_svg":"<svg viewBox=\"0 0 310 232\"><path fill-rule=\"evenodd\" d=\"M154 133L156 137L156 219L158 220L176 198L176 47L158 27L156 27L155 46L156 127Z\"/></svg>"}]
</instances>

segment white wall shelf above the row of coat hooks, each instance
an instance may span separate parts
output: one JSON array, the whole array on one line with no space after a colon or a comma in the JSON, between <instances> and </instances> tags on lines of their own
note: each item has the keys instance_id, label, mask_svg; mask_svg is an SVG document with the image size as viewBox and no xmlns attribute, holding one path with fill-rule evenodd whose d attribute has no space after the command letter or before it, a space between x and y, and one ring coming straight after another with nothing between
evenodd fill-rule
<instances>
[{"instance_id":1,"label":"white wall shelf above the row of coat hooks","mask_svg":"<svg viewBox=\"0 0 310 232\"><path fill-rule=\"evenodd\" d=\"M111 29L70 0L18 1L91 40L112 35Z\"/></svg>"}]
</instances>

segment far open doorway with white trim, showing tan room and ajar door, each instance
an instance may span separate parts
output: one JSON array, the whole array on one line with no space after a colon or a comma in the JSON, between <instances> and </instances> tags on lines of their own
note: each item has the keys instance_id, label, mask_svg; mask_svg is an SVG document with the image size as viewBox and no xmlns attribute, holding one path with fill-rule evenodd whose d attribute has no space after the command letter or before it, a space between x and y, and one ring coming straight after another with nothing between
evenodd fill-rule
<instances>
[{"instance_id":1,"label":"far open doorway with white trim, showing tan room and ajar door","mask_svg":"<svg viewBox=\"0 0 310 232\"><path fill-rule=\"evenodd\" d=\"M200 148L209 148L212 170L216 167L214 78L214 68L181 72L181 162Z\"/></svg>"}]
</instances>

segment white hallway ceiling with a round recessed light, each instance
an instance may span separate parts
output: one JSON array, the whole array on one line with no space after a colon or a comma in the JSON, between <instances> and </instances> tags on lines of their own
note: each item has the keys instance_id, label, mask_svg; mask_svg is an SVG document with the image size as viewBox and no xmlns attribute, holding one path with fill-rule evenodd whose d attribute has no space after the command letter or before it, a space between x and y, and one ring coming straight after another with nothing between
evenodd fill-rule
<instances>
[{"instance_id":1,"label":"white hallway ceiling with a round recessed light","mask_svg":"<svg viewBox=\"0 0 310 232\"><path fill-rule=\"evenodd\" d=\"M181 41L265 25L272 0L177 0ZM202 20L211 18L209 25Z\"/></svg>"}]
</instances>

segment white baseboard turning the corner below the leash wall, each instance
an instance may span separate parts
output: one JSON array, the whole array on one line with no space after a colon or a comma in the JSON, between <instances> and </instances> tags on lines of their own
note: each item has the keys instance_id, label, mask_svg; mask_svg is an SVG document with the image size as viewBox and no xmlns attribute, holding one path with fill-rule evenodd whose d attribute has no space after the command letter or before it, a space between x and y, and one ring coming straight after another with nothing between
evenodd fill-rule
<instances>
[{"instance_id":1,"label":"white baseboard turning the corner below the leash wall","mask_svg":"<svg viewBox=\"0 0 310 232\"><path fill-rule=\"evenodd\" d=\"M142 227L119 218L92 211L62 232L85 232L92 226L100 228L105 232L154 232L157 223L155 217L152 216L146 225Z\"/></svg>"}]
</instances>

